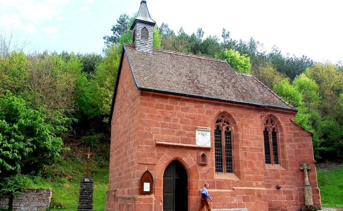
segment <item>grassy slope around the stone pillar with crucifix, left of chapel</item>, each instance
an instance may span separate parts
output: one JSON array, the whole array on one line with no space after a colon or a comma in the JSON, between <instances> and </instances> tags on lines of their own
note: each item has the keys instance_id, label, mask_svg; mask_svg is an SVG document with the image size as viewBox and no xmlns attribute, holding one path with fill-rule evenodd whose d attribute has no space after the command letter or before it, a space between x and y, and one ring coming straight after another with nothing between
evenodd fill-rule
<instances>
[{"instance_id":1,"label":"grassy slope around the stone pillar with crucifix, left of chapel","mask_svg":"<svg viewBox=\"0 0 343 211\"><path fill-rule=\"evenodd\" d=\"M108 161L96 156L89 163L90 176L94 179L93 210L104 210L108 187ZM49 210L76 210L81 177L85 175L85 159L67 154L61 161L50 166L42 177L36 179L31 188L53 190Z\"/></svg>"}]
</instances>

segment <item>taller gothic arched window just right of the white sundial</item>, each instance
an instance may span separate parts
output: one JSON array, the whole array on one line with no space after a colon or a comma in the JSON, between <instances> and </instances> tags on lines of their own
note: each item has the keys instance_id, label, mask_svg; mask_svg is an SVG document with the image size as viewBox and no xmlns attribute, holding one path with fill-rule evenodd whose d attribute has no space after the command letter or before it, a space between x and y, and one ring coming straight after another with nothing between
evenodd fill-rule
<instances>
[{"instance_id":1,"label":"taller gothic arched window just right of the white sundial","mask_svg":"<svg viewBox=\"0 0 343 211\"><path fill-rule=\"evenodd\" d=\"M215 122L214 157L215 172L233 173L232 126L228 119L221 116Z\"/></svg>"}]
</instances>

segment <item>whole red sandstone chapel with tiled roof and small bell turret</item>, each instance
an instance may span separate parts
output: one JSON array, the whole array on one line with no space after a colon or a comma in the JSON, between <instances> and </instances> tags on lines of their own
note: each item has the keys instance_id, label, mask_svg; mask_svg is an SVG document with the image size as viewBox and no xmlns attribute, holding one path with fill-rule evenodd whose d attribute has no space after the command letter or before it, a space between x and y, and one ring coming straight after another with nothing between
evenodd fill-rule
<instances>
[{"instance_id":1,"label":"whole red sandstone chapel with tiled roof and small bell turret","mask_svg":"<svg viewBox=\"0 0 343 211\"><path fill-rule=\"evenodd\" d=\"M309 195L320 208L297 109L225 61L153 48L155 24L142 0L111 105L106 210L195 211L204 183L212 210L300 210Z\"/></svg>"}]
</instances>

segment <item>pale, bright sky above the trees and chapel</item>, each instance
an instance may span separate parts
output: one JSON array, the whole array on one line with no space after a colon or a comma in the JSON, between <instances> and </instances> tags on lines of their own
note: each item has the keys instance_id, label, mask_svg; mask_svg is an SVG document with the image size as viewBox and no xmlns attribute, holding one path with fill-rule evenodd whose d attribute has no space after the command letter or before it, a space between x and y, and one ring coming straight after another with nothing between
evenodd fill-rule
<instances>
[{"instance_id":1,"label":"pale, bright sky above the trees and chapel","mask_svg":"<svg viewBox=\"0 0 343 211\"><path fill-rule=\"evenodd\" d=\"M103 36L122 13L138 12L140 0L0 0L0 36L26 42L25 52L102 53ZM343 1L337 0L147 0L152 19L204 37L222 28L233 39L251 37L269 52L306 55L315 61L343 60Z\"/></svg>"}]
</instances>

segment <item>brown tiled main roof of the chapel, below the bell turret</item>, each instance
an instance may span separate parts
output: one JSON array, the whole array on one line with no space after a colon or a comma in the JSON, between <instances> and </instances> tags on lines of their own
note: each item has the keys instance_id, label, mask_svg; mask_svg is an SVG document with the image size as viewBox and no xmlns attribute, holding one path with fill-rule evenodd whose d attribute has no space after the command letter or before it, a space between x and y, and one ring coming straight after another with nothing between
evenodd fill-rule
<instances>
[{"instance_id":1,"label":"brown tiled main roof of the chapel, below the bell turret","mask_svg":"<svg viewBox=\"0 0 343 211\"><path fill-rule=\"evenodd\" d=\"M296 111L255 77L223 60L124 45L139 89Z\"/></svg>"}]
</instances>

